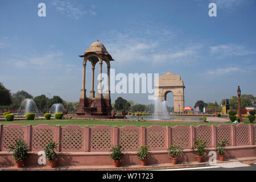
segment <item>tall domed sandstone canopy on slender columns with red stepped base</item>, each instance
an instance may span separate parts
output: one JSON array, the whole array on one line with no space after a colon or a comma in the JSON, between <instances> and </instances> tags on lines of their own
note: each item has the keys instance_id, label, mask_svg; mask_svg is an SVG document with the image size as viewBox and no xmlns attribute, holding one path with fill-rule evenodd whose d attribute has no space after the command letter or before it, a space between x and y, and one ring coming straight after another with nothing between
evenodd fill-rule
<instances>
[{"instance_id":1,"label":"tall domed sandstone canopy on slender columns with red stepped base","mask_svg":"<svg viewBox=\"0 0 256 182\"><path fill-rule=\"evenodd\" d=\"M84 59L82 62L83 72L82 72L82 89L79 100L79 106L77 107L77 115L111 115L112 106L110 98L110 61L114 61L112 56L106 51L105 46L97 40L94 42L89 49L86 49L84 55L81 55ZM105 97L102 93L102 65L103 61L106 62L108 68L108 79ZM90 95L86 96L85 89L85 77L86 77L86 64L91 63L92 65L92 82L90 86ZM94 90L94 70L96 64L100 65L99 70L99 80L97 86L97 96ZM90 64L89 64L90 65Z\"/></svg>"}]
</instances>

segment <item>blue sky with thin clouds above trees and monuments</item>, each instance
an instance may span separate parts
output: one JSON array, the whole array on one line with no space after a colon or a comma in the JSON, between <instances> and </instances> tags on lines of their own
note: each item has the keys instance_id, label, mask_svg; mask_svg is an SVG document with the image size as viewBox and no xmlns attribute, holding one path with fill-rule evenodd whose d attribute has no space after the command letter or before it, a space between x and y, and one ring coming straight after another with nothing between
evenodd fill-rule
<instances>
[{"instance_id":1,"label":"blue sky with thin clouds above trees and monuments","mask_svg":"<svg viewBox=\"0 0 256 182\"><path fill-rule=\"evenodd\" d=\"M217 16L210 17L212 2ZM46 16L38 15L39 3L45 3ZM98 39L114 59L115 75L180 75L185 106L220 103L236 96L238 85L241 94L255 96L255 7L255 0L0 0L0 82L12 93L79 101L79 55ZM91 74L87 64L87 96ZM111 97L112 103L117 97L152 103L142 93ZM173 106L172 93L167 102Z\"/></svg>"}]
</instances>

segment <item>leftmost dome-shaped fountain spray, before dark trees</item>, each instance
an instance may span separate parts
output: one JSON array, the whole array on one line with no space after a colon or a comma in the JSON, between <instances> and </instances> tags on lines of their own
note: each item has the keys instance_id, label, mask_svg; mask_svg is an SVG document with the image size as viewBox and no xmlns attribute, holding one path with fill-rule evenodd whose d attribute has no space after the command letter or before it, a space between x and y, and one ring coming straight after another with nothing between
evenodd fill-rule
<instances>
[{"instance_id":1,"label":"leftmost dome-shaped fountain spray, before dark trees","mask_svg":"<svg viewBox=\"0 0 256 182\"><path fill-rule=\"evenodd\" d=\"M26 98L26 100L22 102L22 104L19 106L17 114L25 115L27 113L39 113L38 107L31 98Z\"/></svg>"}]
</instances>

